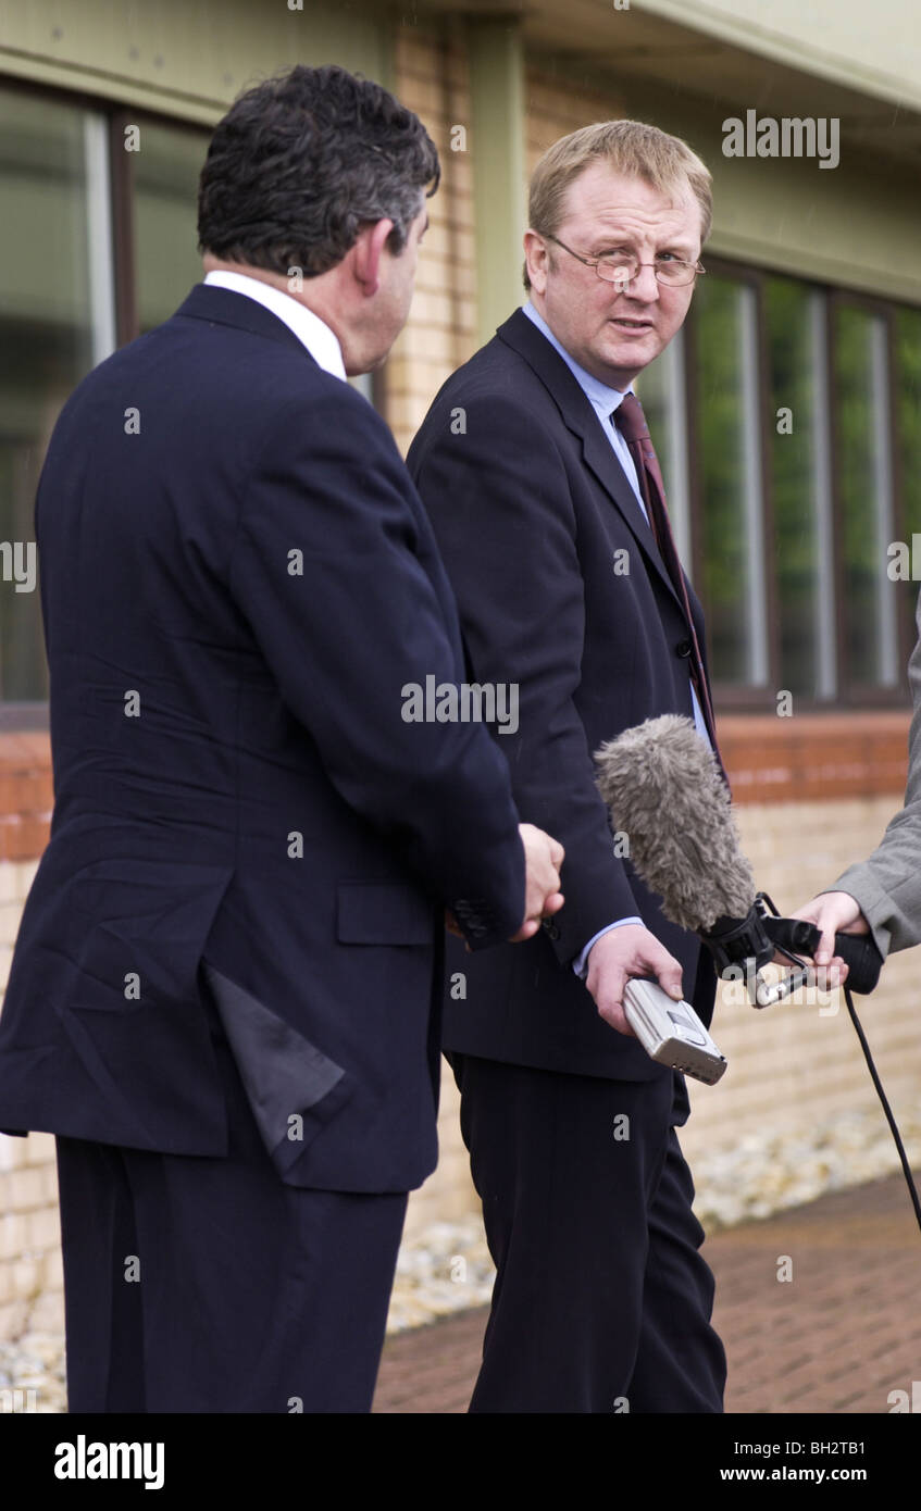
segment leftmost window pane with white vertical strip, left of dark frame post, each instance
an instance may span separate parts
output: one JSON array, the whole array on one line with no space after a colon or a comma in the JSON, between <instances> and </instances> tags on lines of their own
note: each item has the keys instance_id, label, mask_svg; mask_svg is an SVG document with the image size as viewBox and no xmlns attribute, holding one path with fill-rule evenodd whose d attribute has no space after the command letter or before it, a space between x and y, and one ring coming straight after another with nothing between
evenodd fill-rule
<instances>
[{"instance_id":1,"label":"leftmost window pane with white vertical strip, left of dark frame post","mask_svg":"<svg viewBox=\"0 0 921 1511\"><path fill-rule=\"evenodd\" d=\"M12 580L12 548L26 565L54 420L115 346L104 116L0 91L0 700L23 725L47 669L38 583Z\"/></svg>"}]
</instances>

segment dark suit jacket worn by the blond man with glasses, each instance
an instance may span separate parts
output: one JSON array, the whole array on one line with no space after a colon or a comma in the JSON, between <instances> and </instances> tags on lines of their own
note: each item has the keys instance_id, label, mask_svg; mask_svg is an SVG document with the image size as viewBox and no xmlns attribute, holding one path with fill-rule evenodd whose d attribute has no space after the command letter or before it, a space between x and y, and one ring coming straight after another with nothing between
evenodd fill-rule
<instances>
[{"instance_id":1,"label":"dark suit jacket worn by the blond man with glasses","mask_svg":"<svg viewBox=\"0 0 921 1511\"><path fill-rule=\"evenodd\" d=\"M684 607L588 399L522 311L440 390L408 467L457 594L469 675L520 688L517 733L496 733L519 811L566 846L566 905L538 937L466 961L449 941L445 1047L652 1079L662 1068L597 1017L572 961L605 925L638 914L709 1021L712 966L697 981L697 938L662 917L616 854L623 842L593 766L622 730L693 716ZM629 814L617 830L629 831Z\"/></svg>"}]
</instances>

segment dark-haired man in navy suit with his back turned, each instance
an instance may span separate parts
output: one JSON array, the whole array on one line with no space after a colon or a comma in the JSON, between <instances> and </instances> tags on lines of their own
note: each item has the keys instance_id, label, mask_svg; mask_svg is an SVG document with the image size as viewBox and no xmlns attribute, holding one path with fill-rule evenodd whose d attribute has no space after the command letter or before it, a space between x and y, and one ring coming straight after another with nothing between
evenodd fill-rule
<instances>
[{"instance_id":1,"label":"dark-haired man in navy suit with his back turned","mask_svg":"<svg viewBox=\"0 0 921 1511\"><path fill-rule=\"evenodd\" d=\"M345 382L405 320L437 166L343 70L240 97L204 284L51 440L54 814L0 1127L57 1135L71 1411L369 1410L436 1163L445 910L478 950L563 901L488 733L404 716L460 632Z\"/></svg>"}]
</instances>

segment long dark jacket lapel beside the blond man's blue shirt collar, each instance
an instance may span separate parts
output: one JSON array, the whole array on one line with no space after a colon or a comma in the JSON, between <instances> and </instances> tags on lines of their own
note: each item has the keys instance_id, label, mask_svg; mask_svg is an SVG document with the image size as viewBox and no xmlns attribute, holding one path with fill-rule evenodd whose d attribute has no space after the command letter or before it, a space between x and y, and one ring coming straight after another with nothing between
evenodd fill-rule
<instances>
[{"instance_id":1,"label":"long dark jacket lapel beside the blond man's blue shirt collar","mask_svg":"<svg viewBox=\"0 0 921 1511\"><path fill-rule=\"evenodd\" d=\"M563 416L564 425L582 441L585 465L629 524L646 561L658 573L661 582L684 613L684 604L674 591L668 568L659 555L652 529L637 503L637 496L629 485L623 467L617 461L614 447L605 437L597 414L560 357L560 352L554 351L547 338L520 310L516 310L505 325L499 326L496 335L507 346L511 346L519 357L523 357L544 388L547 388Z\"/></svg>"}]
</instances>

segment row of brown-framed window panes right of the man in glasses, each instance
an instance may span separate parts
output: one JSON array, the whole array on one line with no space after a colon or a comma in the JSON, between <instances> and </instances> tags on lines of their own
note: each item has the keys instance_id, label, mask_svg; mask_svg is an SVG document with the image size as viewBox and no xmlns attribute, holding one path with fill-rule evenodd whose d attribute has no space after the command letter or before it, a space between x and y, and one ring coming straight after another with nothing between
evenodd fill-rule
<instances>
[{"instance_id":1,"label":"row of brown-framed window panes right of the man in glasses","mask_svg":"<svg viewBox=\"0 0 921 1511\"><path fill-rule=\"evenodd\" d=\"M918 580L921 311L706 258L637 387L721 707L904 701Z\"/></svg>"}]
</instances>

